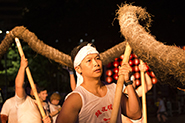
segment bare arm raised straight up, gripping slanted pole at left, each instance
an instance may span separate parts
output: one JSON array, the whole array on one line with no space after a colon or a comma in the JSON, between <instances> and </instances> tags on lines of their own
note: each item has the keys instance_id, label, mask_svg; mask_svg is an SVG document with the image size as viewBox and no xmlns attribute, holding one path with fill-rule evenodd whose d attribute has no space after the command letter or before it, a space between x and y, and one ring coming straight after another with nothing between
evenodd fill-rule
<instances>
[{"instance_id":1,"label":"bare arm raised straight up, gripping slanted pole at left","mask_svg":"<svg viewBox=\"0 0 185 123\"><path fill-rule=\"evenodd\" d=\"M15 79L15 93L20 98L26 95L23 85L24 85L25 70L27 66L28 66L28 60L24 56L22 56L20 68Z\"/></svg>"}]
</instances>

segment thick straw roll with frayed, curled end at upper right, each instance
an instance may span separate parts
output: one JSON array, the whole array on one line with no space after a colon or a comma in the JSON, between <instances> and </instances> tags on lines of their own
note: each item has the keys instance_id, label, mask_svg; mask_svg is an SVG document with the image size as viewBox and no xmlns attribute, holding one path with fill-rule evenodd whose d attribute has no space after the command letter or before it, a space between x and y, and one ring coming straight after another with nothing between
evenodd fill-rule
<instances>
[{"instance_id":1,"label":"thick straw roll with frayed, curled end at upper right","mask_svg":"<svg viewBox=\"0 0 185 123\"><path fill-rule=\"evenodd\" d=\"M164 45L146 31L151 16L145 9L124 4L119 7L117 15L122 35L133 52L148 63L158 80L171 86L185 87L185 51ZM146 27L140 25L140 20L147 20Z\"/></svg>"}]
</instances>

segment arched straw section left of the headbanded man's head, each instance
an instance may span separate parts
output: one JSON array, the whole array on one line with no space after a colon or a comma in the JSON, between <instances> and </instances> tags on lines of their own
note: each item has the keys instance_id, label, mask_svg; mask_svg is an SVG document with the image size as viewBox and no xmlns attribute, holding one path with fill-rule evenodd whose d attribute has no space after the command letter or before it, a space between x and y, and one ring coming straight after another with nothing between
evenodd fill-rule
<instances>
[{"instance_id":1,"label":"arched straw section left of the headbanded man's head","mask_svg":"<svg viewBox=\"0 0 185 123\"><path fill-rule=\"evenodd\" d=\"M14 41L13 39L15 37L18 37L19 39L22 39L23 41L27 42L28 45L35 52L56 62L59 62L60 64L72 66L69 55L59 52L55 48L52 48L44 44L41 40L37 38L37 36L34 33L30 32L23 26L15 27L10 31L9 34L5 36L4 40L0 44L0 49L2 49L0 50L1 55L8 50L8 48L11 46L11 43L13 43Z\"/></svg>"}]
</instances>

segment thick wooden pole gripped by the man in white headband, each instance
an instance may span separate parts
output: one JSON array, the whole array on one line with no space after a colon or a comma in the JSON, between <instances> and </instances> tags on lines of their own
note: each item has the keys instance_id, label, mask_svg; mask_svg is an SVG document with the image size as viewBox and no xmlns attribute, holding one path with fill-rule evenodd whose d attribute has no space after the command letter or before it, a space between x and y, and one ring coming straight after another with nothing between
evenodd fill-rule
<instances>
[{"instance_id":1,"label":"thick wooden pole gripped by the man in white headband","mask_svg":"<svg viewBox=\"0 0 185 123\"><path fill-rule=\"evenodd\" d=\"M130 54L131 54L131 47L129 46L127 42L122 64L128 63ZM114 97L114 103L113 103L110 123L116 123L117 121L118 111L119 111L120 102L121 102L121 95L122 95L122 90L123 90L123 83L124 83L124 75L120 75L117 81L117 85L116 85L116 92L115 92L115 97Z\"/></svg>"}]
</instances>

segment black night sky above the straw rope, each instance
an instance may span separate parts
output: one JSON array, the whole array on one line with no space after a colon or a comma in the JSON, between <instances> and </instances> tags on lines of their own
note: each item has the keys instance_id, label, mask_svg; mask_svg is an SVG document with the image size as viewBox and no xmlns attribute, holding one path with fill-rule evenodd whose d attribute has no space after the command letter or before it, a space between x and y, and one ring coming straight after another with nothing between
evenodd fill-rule
<instances>
[{"instance_id":1,"label":"black night sky above the straw rope","mask_svg":"<svg viewBox=\"0 0 185 123\"><path fill-rule=\"evenodd\" d=\"M23 25L39 39L69 54L80 39L100 52L124 40L115 11L123 0L0 0L0 29ZM128 0L145 7L152 17L151 34L167 45L184 45L183 1ZM112 25L113 22L113 25Z\"/></svg>"}]
</instances>

